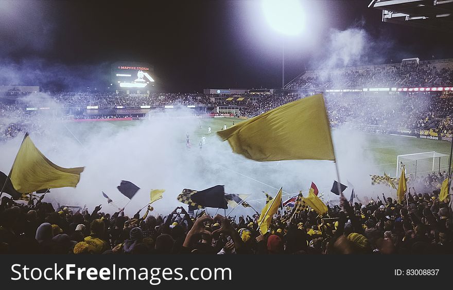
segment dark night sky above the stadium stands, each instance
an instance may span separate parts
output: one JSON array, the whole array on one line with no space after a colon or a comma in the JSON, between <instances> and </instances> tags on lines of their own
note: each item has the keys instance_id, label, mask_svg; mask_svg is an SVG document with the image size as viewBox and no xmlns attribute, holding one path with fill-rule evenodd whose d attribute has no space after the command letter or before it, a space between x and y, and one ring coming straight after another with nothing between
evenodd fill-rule
<instances>
[{"instance_id":1,"label":"dark night sky above the stadium stands","mask_svg":"<svg viewBox=\"0 0 453 290\"><path fill-rule=\"evenodd\" d=\"M453 56L444 33L381 23L381 11L368 4L305 1L307 33L284 37L258 1L0 1L0 61L37 73L58 66L66 81L75 70L96 71L100 81L113 62L148 62L159 90L193 92L279 87L283 42L289 81L328 57L332 31L354 27L379 42L363 65ZM37 63L38 69L27 67Z\"/></svg>"}]
</instances>

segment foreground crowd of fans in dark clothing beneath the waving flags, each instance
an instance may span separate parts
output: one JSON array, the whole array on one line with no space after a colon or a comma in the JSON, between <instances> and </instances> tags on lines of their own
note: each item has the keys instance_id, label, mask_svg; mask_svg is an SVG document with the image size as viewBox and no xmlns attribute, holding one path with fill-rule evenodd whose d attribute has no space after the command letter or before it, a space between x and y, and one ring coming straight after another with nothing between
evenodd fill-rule
<instances>
[{"instance_id":1,"label":"foreground crowd of fans in dark clothing beneath the waving flags","mask_svg":"<svg viewBox=\"0 0 453 290\"><path fill-rule=\"evenodd\" d=\"M258 230L257 213L210 217L179 206L153 216L148 206L143 216L128 217L124 209L108 214L101 206L53 205L45 195L28 204L1 199L0 253L453 254L451 211L439 189L409 188L401 203L384 194L357 202L341 196L323 216L309 207L281 209L267 233Z\"/></svg>"}]
</instances>

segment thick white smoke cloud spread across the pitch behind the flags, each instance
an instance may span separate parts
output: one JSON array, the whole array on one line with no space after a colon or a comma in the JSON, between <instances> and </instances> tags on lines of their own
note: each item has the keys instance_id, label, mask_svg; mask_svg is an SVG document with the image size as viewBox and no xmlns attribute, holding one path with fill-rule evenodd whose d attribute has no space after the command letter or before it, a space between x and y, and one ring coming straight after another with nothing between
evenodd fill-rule
<instances>
[{"instance_id":1,"label":"thick white smoke cloud spread across the pitch behind the flags","mask_svg":"<svg viewBox=\"0 0 453 290\"><path fill-rule=\"evenodd\" d=\"M40 98L45 99L40 102L58 107L46 95ZM161 188L166 192L162 200L153 204L154 214L167 214L181 206L176 197L184 188L202 190L217 184L225 185L227 193L252 194L250 201L261 199L251 202L258 211L264 206L262 191L275 196L281 186L293 196L299 190L306 192L313 181L327 199L336 179L332 162L250 161L233 153L229 144L221 142L213 133L200 150L199 119L181 118L182 115L184 111L179 111L170 113L169 119L134 121L131 126L120 126L124 121L63 122L59 116L35 115L32 121L40 124L41 130L31 132L30 137L45 156L63 167L85 166L77 188L51 189L45 201L61 205L86 204L90 209L102 204L103 211L114 212L117 208L108 205L101 192L106 192L115 205L124 206L127 199L116 189L121 180L141 187L126 207L128 215L147 204L151 189ZM205 132L206 127L202 131ZM192 143L190 149L185 146L186 133ZM370 170L370 163L357 154L363 146L360 134L336 130L333 135L343 183L347 179L357 188L362 186L363 180L369 184L366 172ZM9 172L22 137L0 144L0 170L3 172ZM335 196L330 195L330 198ZM253 212L239 206L234 214Z\"/></svg>"}]
</instances>

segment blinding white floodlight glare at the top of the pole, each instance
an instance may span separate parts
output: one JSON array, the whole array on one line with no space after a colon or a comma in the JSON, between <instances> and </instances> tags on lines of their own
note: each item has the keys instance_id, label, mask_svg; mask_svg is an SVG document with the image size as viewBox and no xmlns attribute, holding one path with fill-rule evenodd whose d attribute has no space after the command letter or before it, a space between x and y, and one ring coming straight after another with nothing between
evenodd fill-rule
<instances>
[{"instance_id":1,"label":"blinding white floodlight glare at the top of the pole","mask_svg":"<svg viewBox=\"0 0 453 290\"><path fill-rule=\"evenodd\" d=\"M263 0L263 12L270 26L280 33L297 35L304 28L300 0Z\"/></svg>"}]
</instances>

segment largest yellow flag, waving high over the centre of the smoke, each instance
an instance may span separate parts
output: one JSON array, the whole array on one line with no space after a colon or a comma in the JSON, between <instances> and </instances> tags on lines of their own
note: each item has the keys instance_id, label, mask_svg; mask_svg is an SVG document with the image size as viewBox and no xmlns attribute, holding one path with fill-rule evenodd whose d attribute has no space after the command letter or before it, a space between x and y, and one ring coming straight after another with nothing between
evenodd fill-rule
<instances>
[{"instance_id":1,"label":"largest yellow flag, waving high over the centre of the smoke","mask_svg":"<svg viewBox=\"0 0 453 290\"><path fill-rule=\"evenodd\" d=\"M335 160L322 94L308 96L218 131L234 152L257 161Z\"/></svg>"}]
</instances>

